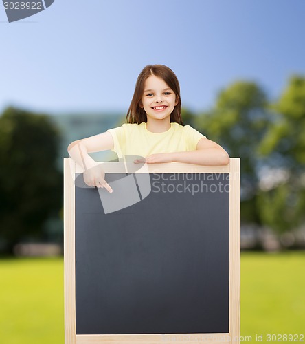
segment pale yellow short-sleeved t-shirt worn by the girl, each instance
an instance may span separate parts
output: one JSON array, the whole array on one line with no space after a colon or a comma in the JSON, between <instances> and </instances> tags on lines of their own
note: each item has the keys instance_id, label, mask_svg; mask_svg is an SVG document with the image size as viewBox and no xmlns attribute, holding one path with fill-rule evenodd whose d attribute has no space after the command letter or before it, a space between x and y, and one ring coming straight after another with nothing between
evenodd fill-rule
<instances>
[{"instance_id":1,"label":"pale yellow short-sleeved t-shirt worn by the girl","mask_svg":"<svg viewBox=\"0 0 305 344\"><path fill-rule=\"evenodd\" d=\"M170 129L163 133L153 133L146 129L146 122L141 124L125 123L121 127L107 130L113 137L113 149L119 158L124 155L140 155L146 158L155 153L194 151L201 140L202 133L190 127L170 123Z\"/></svg>"}]
</instances>

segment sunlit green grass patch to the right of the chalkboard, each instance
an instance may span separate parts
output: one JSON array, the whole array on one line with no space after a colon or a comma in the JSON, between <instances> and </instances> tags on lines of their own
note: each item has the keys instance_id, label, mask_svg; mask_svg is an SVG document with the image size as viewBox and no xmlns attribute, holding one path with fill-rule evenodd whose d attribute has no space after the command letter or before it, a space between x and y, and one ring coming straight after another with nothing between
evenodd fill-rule
<instances>
[{"instance_id":1,"label":"sunlit green grass patch to the right of the chalkboard","mask_svg":"<svg viewBox=\"0 0 305 344\"><path fill-rule=\"evenodd\" d=\"M240 280L242 336L305 334L305 252L242 253Z\"/></svg>"}]
</instances>

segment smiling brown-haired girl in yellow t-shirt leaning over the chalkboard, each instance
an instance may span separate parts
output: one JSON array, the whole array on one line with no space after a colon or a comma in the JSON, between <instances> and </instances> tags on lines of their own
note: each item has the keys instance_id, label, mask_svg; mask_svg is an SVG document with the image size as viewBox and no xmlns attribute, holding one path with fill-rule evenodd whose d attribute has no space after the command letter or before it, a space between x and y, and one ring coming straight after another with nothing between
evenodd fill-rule
<instances>
[{"instance_id":1,"label":"smiling brown-haired girl in yellow t-shirt leaning over the chalkboard","mask_svg":"<svg viewBox=\"0 0 305 344\"><path fill-rule=\"evenodd\" d=\"M229 155L221 146L190 125L183 126L179 82L165 65L147 65L139 74L124 125L69 144L70 157L84 168L84 182L112 192L101 165L88 154L107 149L119 158L145 157L135 163L229 164Z\"/></svg>"}]
</instances>

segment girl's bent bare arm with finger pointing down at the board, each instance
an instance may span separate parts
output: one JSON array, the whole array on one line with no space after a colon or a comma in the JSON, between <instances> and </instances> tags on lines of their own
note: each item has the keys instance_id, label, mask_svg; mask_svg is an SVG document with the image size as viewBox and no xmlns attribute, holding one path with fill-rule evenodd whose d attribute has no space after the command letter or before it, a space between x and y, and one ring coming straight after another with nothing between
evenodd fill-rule
<instances>
[{"instance_id":1,"label":"girl's bent bare arm with finger pointing down at the board","mask_svg":"<svg viewBox=\"0 0 305 344\"><path fill-rule=\"evenodd\" d=\"M95 162L88 153L113 149L113 138L108 131L69 144L70 157L84 169L84 182L88 186L105 188L112 192L109 184L104 180L105 173L102 165Z\"/></svg>"}]
</instances>

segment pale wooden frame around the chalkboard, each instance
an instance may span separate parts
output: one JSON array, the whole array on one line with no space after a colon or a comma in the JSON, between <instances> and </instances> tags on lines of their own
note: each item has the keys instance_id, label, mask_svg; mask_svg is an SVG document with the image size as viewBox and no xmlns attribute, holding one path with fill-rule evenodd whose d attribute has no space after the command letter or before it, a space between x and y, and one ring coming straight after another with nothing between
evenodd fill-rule
<instances>
[{"instance_id":1,"label":"pale wooden frame around the chalkboard","mask_svg":"<svg viewBox=\"0 0 305 344\"><path fill-rule=\"evenodd\" d=\"M120 173L122 162L108 165L106 173ZM71 158L64 159L64 275L65 344L161 343L175 341L207 344L240 343L240 158L230 158L227 166L148 164L149 173L229 173L229 333L212 334L91 334L76 335L75 279L75 173L82 173ZM141 172L140 172L141 173Z\"/></svg>"}]
</instances>

